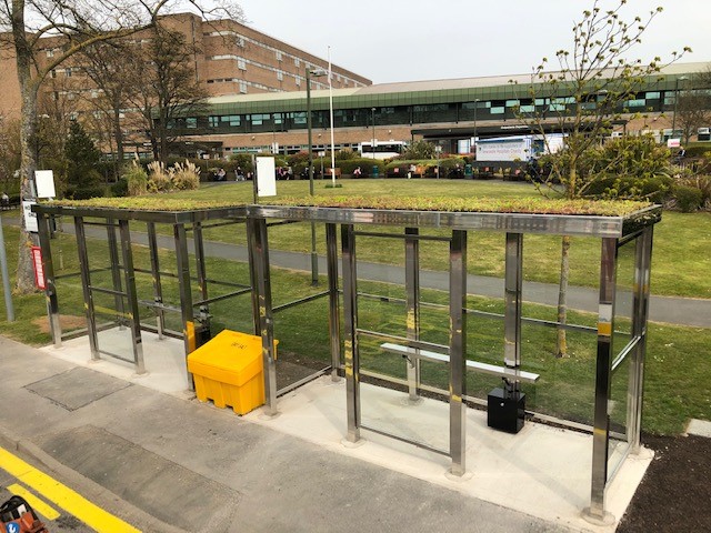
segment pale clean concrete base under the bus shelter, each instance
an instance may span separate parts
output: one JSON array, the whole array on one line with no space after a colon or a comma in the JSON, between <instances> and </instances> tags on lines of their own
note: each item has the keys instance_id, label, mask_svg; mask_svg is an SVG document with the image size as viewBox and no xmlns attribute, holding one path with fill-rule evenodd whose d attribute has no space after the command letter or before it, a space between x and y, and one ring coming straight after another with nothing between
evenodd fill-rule
<instances>
[{"instance_id":1,"label":"pale clean concrete base under the bus shelter","mask_svg":"<svg viewBox=\"0 0 711 533\"><path fill-rule=\"evenodd\" d=\"M100 333L100 345L117 351L127 331ZM51 355L90 366L178 398L188 391L182 341L158 340L142 334L147 374L137 375L130 363L106 358L91 361L87 338L66 341ZM111 348L109 348L111 346ZM129 352L130 353L130 352ZM449 405L423 399L403 402L405 393L361 385L362 423L428 446L447 450ZM487 426L485 411L467 410L467 475L449 475L450 460L412 444L361 431L360 445L344 445L347 434L346 382L322 376L279 399L279 416L266 418L261 409L242 420L318 444L351 457L377 464L437 484L461 494L513 509L574 531L613 532L617 522L593 525L582 516L590 505L592 436L544 424L527 422L518 434ZM614 449L610 451L614 460ZM642 449L630 455L607 492L605 509L618 521L624 514L653 453Z\"/></svg>"}]
</instances>

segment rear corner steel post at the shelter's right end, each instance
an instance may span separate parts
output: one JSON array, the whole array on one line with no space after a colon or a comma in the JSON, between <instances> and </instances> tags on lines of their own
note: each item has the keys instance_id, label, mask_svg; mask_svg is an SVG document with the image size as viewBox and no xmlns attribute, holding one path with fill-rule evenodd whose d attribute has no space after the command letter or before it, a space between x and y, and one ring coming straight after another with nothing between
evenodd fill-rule
<instances>
[{"instance_id":1,"label":"rear corner steel post at the shelter's right end","mask_svg":"<svg viewBox=\"0 0 711 533\"><path fill-rule=\"evenodd\" d=\"M640 451L642 430L642 403L644 399L644 356L647 353L647 319L649 315L650 270L652 263L652 234L654 227L642 231L637 238L634 261L634 309L632 319L632 338L639 336L639 342L632 353L632 372L630 372L630 419L628 428L631 433L629 442L632 453Z\"/></svg>"}]
</instances>

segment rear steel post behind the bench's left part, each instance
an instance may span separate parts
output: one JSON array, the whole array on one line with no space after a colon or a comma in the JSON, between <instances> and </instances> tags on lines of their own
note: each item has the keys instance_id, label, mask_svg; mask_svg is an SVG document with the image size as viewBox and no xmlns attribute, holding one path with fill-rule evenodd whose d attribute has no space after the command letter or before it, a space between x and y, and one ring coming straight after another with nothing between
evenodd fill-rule
<instances>
[{"instance_id":1,"label":"rear steel post behind the bench's left part","mask_svg":"<svg viewBox=\"0 0 711 533\"><path fill-rule=\"evenodd\" d=\"M418 228L405 228L405 235L419 235ZM420 340L420 241L418 239L404 239L404 288L407 305L408 340ZM420 359L409 358L408 394L411 402L417 402L420 386Z\"/></svg>"}]
</instances>

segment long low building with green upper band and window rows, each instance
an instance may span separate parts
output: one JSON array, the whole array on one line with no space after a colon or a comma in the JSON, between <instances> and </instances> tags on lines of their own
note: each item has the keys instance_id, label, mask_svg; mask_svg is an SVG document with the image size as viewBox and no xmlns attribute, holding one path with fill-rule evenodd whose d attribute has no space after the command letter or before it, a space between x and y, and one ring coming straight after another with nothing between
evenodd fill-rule
<instances>
[{"instance_id":1,"label":"long low building with green upper band and window rows","mask_svg":"<svg viewBox=\"0 0 711 533\"><path fill-rule=\"evenodd\" d=\"M648 77L625 101L612 135L652 133L660 141L672 137L677 94L694 88L710 63L678 63ZM384 83L338 89L333 95L334 148L357 149L359 143L427 139L443 152L468 153L473 138L528 133L519 120L522 110L558 113L572 109L565 94L530 97L531 77L467 78ZM330 149L329 91L311 91L313 149ZM294 153L308 149L306 90L280 94L223 95L209 100L200 115L176 124L189 142L209 141L218 155L239 152ZM679 123L677 123L679 125ZM709 124L705 124L709 125ZM694 132L695 133L695 132ZM673 134L679 135L679 131Z\"/></svg>"}]
</instances>

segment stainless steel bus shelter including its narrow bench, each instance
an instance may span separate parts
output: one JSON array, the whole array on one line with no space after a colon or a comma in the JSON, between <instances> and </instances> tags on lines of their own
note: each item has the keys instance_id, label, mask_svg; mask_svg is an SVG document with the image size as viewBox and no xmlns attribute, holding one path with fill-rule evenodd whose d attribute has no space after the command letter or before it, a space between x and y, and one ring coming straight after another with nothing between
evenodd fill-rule
<instances>
[{"instance_id":1,"label":"stainless steel bus shelter including its narrow bench","mask_svg":"<svg viewBox=\"0 0 711 533\"><path fill-rule=\"evenodd\" d=\"M307 202L304 202L307 203ZM377 202L373 202L377 205ZM451 460L451 473L463 475L465 465L465 422L467 403L481 403L481 399L470 396L467 390L468 373L482 373L501 379L503 389L509 398L518 398L525 384L534 384L539 378L537 372L525 369L522 360L522 330L524 324L535 323L542 328L580 331L592 335L595 343L594 372L591 383L594 391L590 398L592 423L581 424L573 420L553 419L552 421L577 430L585 430L592 434L592 466L590 505L584 515L592 522L605 523L610 521L605 512L605 489L614 477L619 467L630 453L640 449L642 385L644 371L644 355L647 342L647 320L649 306L649 279L652 253L653 225L661 220L661 208L650 207L621 215L595 214L538 214L538 213L503 213L503 212L449 212L449 211L418 211L408 209L378 209L362 204L358 208L338 205L338 201L329 205L247 205L226 210L207 210L161 213L156 212L123 212L121 210L101 210L96 208L62 208L61 205L38 205L33 208L39 214L40 240L43 251L44 273L47 278L47 295L50 319L56 314L57 294L53 291L51 253L49 253L49 217L71 215L78 240L79 254L82 254L81 240L84 239L82 225L84 218L102 218L103 224L118 225L122 242L122 269L126 280L126 295L129 312L132 318L131 331L139 330L136 324L138 314L136 303L131 299L131 272L133 266L130 254L127 255L126 243L130 242L129 220L156 223L166 222L173 225L179 270L184 272L184 284L190 284L190 274L186 271L187 244L186 224L192 224L193 231L206 221L216 219L234 219L230 222L244 221L248 237L249 264L252 295L252 318L254 332L262 338L264 361L264 381L267 393L266 412L278 412L277 365L274 352L274 320L272 305L271 270L269 260L269 235L272 227L282 223L309 222L323 227L327 243L328 289L322 295L329 296L329 338L331 348L331 365L333 379L340 372L346 379L347 390L347 439L351 442L360 440L362 431L374 431L387 436L410 442L402 435L389 434L377 428L363 423L361 409L361 382L367 378L361 372L361 348L367 339L382 341L379 349L383 353L402 356L405 365L404 384L408 398L417 402L423 392L437 392L447 396L449 401L449 446L435 449L422 442L411 444L441 453ZM159 220L160 219L160 220ZM198 224L198 225L196 225ZM338 233L340 228L341 275L338 269ZM430 230L437 230L432 234ZM468 249L470 235L478 232L494 232L501 235L505 250L504 291L502 294L503 312L484 313L500 320L503 324L503 350L500 364L478 361L475 346L468 342L468 321L481 311L468 305ZM199 234L199 230L196 235ZM531 319L522 315L523 304L523 251L527 235L571 235L594 239L599 242L598 266L598 312L597 325L585 326L571 323L559 323ZM399 240L404 245L404 298L402 304L407 319L401 334L374 331L361 328L359 324L359 304L370 295L359 290L357 242L361 239L378 239L383 241ZM432 342L423 339L422 309L420 294L420 245L422 242L438 241L448 248L448 303L444 305L448 314L447 342ZM130 248L130 247L129 247ZM196 257L200 253L197 252ZM118 252L117 252L118 253ZM631 283L629 291L618 290L618 270L620 258L629 258L627 268L630 270ZM86 263L86 264L84 264ZM87 318L91 341L91 280L88 276L89 265L82 261L82 282L87 302ZM154 272L158 268L153 269ZM86 271L86 272L84 272ZM198 266L200 271L200 266ZM200 273L198 279L201 279ZM340 281L340 289L339 289ZM114 291L118 292L118 291ZM339 299L342 298L342 305ZM378 298L378 296L375 296ZM134 300L134 299L133 299ZM157 296L158 300L158 296ZM181 312L183 321L183 340L186 353L194 349L191 341L190 322L194 320L196 302L189 298L187 288L181 289ZM198 302L199 305L209 304L207 295ZM298 304L301 302L294 302ZM159 310L160 306L158 308ZM628 331L615 328L619 310L627 311ZM162 311L162 310L161 310ZM198 313L199 315L199 313ZM51 321L56 335L56 321ZM342 328L340 323L342 322ZM57 341L56 341L57 342ZM140 340L136 341L137 346ZM98 349L92 344L92 354ZM139 346L140 348L140 346ZM140 350L137 351L136 364L139 369ZM421 382L422 364L442 365L447 369L447 388L425 386ZM379 379L387 376L378 375ZM397 380L395 380L397 381ZM615 389L613 390L613 384ZM619 398L623 398L622 422L613 423L611 410ZM620 409L615 420L620 420ZM528 412L537 415L535 412ZM551 416L540 415L541 420Z\"/></svg>"}]
</instances>

